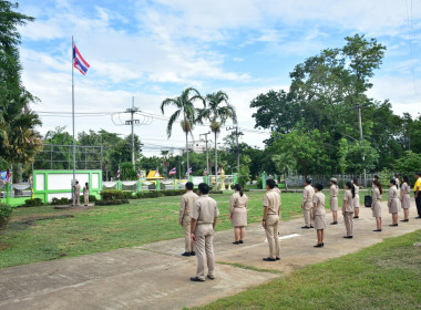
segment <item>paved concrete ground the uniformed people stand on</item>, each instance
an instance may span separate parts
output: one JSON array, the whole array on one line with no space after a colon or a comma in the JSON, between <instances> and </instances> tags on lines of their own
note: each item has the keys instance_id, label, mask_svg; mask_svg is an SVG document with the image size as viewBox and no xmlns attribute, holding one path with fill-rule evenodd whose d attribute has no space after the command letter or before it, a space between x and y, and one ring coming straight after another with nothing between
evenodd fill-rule
<instances>
[{"instance_id":1,"label":"paved concrete ground the uniformed people stand on","mask_svg":"<svg viewBox=\"0 0 421 310\"><path fill-rule=\"evenodd\" d=\"M412 202L412 206L414 203ZM400 215L401 216L401 215ZM268 246L260 226L247 228L246 244L232 245L233 232L217 232L216 260L287 275L301 266L358 251L421 228L421 219L389 227L391 216L383 205L383 231L372 232L374 219L361 208L355 221L355 238L343 239L343 221L328 226L325 248L316 249L316 232L302 230L302 219L281 223L281 260L264 262ZM328 221L331 215L327 215ZM138 248L88 255L0 269L0 309L182 309L234 294L281 275L217 265L217 279L193 283L196 259L184 258L183 240L174 239Z\"/></svg>"}]
</instances>

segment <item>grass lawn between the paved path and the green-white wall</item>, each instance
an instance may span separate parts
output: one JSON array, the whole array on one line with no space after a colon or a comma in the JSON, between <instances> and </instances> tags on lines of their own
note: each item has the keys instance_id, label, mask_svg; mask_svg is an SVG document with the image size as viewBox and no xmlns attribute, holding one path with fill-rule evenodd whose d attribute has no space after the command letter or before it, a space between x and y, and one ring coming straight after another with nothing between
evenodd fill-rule
<instances>
[{"instance_id":1,"label":"grass lawn between the paved path and the green-white wall","mask_svg":"<svg viewBox=\"0 0 421 310\"><path fill-rule=\"evenodd\" d=\"M247 193L249 223L261 219L263 195L263 190ZM214 196L220 211L217 230L232 228L227 217L229 197L230 194ZM178 225L179 199L179 196L138 199L130 205L86 210L55 210L52 206L18 208L8 229L0 231L0 268L183 237ZM281 200L283 220L301 215L301 194L285 193Z\"/></svg>"}]
</instances>

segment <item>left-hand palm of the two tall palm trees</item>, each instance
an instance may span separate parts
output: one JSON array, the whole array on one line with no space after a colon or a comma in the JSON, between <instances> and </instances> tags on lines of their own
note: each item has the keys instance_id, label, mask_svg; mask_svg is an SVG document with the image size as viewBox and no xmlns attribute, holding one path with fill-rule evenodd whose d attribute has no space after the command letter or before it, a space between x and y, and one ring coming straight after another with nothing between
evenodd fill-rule
<instances>
[{"instance_id":1,"label":"left-hand palm of the two tall palm trees","mask_svg":"<svg viewBox=\"0 0 421 310\"><path fill-rule=\"evenodd\" d=\"M198 110L194 107L195 101L202 101L205 106L205 101L203 100L201 93L193 87L185 89L182 94L175 99L166 99L161 104L161 112L164 114L164 107L167 105L173 105L177 110L171 115L168 120L168 125L166 127L166 133L168 138L173 132L173 125L178 117L182 118L181 125L183 132L186 134L186 154L187 154L187 170L189 168L188 159L188 133L192 133L193 126L196 124Z\"/></svg>"}]
</instances>

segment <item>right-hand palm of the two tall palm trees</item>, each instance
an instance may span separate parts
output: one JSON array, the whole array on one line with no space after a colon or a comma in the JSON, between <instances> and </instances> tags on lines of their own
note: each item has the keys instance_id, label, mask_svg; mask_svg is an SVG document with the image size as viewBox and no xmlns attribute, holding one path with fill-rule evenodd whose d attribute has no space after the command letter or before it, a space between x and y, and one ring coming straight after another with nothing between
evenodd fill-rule
<instances>
[{"instance_id":1,"label":"right-hand palm of the two tall palm trees","mask_svg":"<svg viewBox=\"0 0 421 310\"><path fill-rule=\"evenodd\" d=\"M206 107L201 110L198 122L203 123L204 120L210 122L210 131L215 134L215 187L218 187L218 149L217 149L217 135L220 127L230 118L233 123L237 123L237 113L235 107L229 104L228 95L218 91L216 93L206 95ZM223 105L225 103L225 105Z\"/></svg>"}]
</instances>

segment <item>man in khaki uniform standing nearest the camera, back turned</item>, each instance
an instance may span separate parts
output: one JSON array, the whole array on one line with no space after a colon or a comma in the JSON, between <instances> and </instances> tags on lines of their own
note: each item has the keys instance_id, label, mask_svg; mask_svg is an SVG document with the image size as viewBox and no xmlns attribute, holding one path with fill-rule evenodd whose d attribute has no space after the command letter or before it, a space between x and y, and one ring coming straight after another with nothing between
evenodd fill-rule
<instances>
[{"instance_id":1,"label":"man in khaki uniform standing nearest the camera, back turned","mask_svg":"<svg viewBox=\"0 0 421 310\"><path fill-rule=\"evenodd\" d=\"M209 186L206 183L198 185L198 199L193 205L192 218L192 240L195 241L197 257L196 277L191 280L195 282L205 281L205 264L207 261L207 278L215 279L215 257L214 257L214 235L216 219L219 215L216 202L207 194Z\"/></svg>"}]
</instances>

